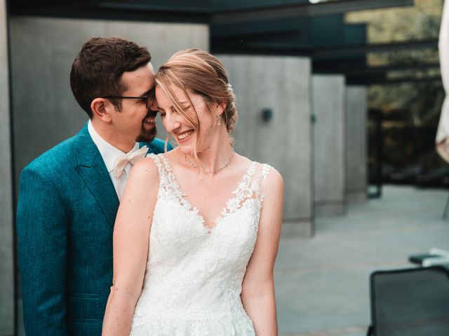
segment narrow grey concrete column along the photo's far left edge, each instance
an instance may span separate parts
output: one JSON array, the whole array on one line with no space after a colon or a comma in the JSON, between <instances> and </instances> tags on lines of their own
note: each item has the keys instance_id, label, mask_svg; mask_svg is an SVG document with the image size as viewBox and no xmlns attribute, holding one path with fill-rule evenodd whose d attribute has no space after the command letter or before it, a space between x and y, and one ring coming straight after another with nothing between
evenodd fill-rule
<instances>
[{"instance_id":1,"label":"narrow grey concrete column along the photo's far left edge","mask_svg":"<svg viewBox=\"0 0 449 336\"><path fill-rule=\"evenodd\" d=\"M14 332L13 176L6 2L0 0L0 335Z\"/></svg>"}]
</instances>

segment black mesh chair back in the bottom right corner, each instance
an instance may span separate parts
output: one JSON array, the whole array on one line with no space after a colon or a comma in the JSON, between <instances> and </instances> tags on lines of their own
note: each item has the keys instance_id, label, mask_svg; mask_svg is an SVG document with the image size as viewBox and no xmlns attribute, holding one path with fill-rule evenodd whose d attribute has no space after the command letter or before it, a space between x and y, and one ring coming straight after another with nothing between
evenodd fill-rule
<instances>
[{"instance_id":1,"label":"black mesh chair back in the bottom right corner","mask_svg":"<svg viewBox=\"0 0 449 336\"><path fill-rule=\"evenodd\" d=\"M373 272L367 336L448 336L449 270L443 266Z\"/></svg>"}]
</instances>

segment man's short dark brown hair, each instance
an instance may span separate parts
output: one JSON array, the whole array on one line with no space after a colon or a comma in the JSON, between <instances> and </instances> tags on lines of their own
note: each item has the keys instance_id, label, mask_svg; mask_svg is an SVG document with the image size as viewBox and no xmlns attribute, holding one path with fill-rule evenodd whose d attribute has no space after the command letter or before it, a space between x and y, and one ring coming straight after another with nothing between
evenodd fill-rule
<instances>
[{"instance_id":1,"label":"man's short dark brown hair","mask_svg":"<svg viewBox=\"0 0 449 336\"><path fill-rule=\"evenodd\" d=\"M70 71L70 87L76 102L92 118L93 99L121 96L125 71L134 71L152 59L149 51L121 37L94 37L84 43ZM121 99L109 99L120 111Z\"/></svg>"}]
</instances>

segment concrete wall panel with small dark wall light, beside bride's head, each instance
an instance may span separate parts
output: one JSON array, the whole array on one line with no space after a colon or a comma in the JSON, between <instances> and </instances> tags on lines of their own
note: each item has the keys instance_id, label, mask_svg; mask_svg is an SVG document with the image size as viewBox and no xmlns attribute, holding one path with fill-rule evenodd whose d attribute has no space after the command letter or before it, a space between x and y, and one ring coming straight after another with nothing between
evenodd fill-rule
<instances>
[{"instance_id":1,"label":"concrete wall panel with small dark wall light, beside bride's head","mask_svg":"<svg viewBox=\"0 0 449 336\"><path fill-rule=\"evenodd\" d=\"M285 182L284 232L310 236L311 133L309 59L220 56L237 96L236 151L267 162ZM272 120L262 110L272 109Z\"/></svg>"}]
</instances>

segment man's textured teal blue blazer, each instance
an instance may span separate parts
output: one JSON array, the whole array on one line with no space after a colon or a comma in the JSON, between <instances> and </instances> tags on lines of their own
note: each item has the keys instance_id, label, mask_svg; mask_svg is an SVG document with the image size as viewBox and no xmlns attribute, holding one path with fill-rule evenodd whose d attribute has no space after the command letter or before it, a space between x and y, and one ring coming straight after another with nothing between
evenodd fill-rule
<instances>
[{"instance_id":1,"label":"man's textured teal blue blazer","mask_svg":"<svg viewBox=\"0 0 449 336\"><path fill-rule=\"evenodd\" d=\"M145 145L164 151L160 139ZM16 224L27 336L101 335L118 207L87 125L23 169Z\"/></svg>"}]
</instances>

